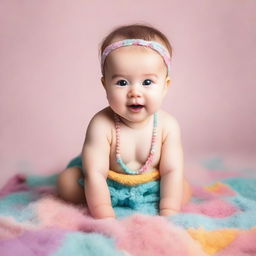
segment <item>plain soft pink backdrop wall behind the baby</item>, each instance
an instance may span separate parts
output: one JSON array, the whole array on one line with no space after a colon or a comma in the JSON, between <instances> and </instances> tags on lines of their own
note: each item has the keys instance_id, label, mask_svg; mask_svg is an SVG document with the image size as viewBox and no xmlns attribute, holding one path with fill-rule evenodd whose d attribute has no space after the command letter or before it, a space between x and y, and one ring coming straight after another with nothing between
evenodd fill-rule
<instances>
[{"instance_id":1,"label":"plain soft pink backdrop wall behind the baby","mask_svg":"<svg viewBox=\"0 0 256 256\"><path fill-rule=\"evenodd\" d=\"M221 155L252 164L255 13L255 0L0 1L0 183L61 170L80 152L89 119L107 104L99 43L133 22L173 44L164 108L181 124L186 162Z\"/></svg>"}]
</instances>

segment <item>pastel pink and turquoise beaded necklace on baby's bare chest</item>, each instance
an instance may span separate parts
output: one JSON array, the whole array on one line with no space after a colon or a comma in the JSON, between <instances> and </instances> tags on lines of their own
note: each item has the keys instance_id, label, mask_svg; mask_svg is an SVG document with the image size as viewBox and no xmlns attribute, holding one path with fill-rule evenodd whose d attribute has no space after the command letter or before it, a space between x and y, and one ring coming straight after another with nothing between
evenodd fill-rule
<instances>
[{"instance_id":1,"label":"pastel pink and turquoise beaded necklace on baby's bare chest","mask_svg":"<svg viewBox=\"0 0 256 256\"><path fill-rule=\"evenodd\" d=\"M121 169L127 174L140 174L148 170L153 161L153 156L155 154L156 147L156 135L157 135L157 113L154 113L154 121L153 121L153 133L151 140L151 147L148 158L145 164L138 170L131 170L127 167L127 165L123 162L120 155L120 118L117 114L115 114L115 127L116 127L116 162L119 164Z\"/></svg>"}]
</instances>

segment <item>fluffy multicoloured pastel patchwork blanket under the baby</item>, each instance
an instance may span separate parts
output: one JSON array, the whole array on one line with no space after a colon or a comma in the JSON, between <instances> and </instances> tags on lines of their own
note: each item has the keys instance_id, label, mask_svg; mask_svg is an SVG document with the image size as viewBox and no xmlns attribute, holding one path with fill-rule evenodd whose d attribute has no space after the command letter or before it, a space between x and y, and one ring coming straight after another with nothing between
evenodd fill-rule
<instances>
[{"instance_id":1,"label":"fluffy multicoloured pastel patchwork blanket under the baby","mask_svg":"<svg viewBox=\"0 0 256 256\"><path fill-rule=\"evenodd\" d=\"M57 175L16 175L0 190L0 255L256 255L255 170L212 161L187 174L193 198L181 213L126 209L115 220L59 200Z\"/></svg>"}]
</instances>

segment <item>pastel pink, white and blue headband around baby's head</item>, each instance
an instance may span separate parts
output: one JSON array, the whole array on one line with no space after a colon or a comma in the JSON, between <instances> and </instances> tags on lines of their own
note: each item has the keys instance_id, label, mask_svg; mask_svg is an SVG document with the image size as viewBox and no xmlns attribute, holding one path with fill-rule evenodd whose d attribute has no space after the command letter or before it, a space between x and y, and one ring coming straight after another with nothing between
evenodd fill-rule
<instances>
[{"instance_id":1,"label":"pastel pink, white and blue headband around baby's head","mask_svg":"<svg viewBox=\"0 0 256 256\"><path fill-rule=\"evenodd\" d=\"M162 56L166 66L167 66L168 74L170 74L171 58L170 58L169 51L163 45L161 45L155 41L145 41L142 39L125 39L125 40L118 41L118 42L108 45L104 49L102 56L101 56L101 72L102 72L102 74L103 74L103 66L104 66L107 56L115 49L118 49L118 48L124 47L124 46L131 46L131 45L146 46L146 47L149 47L149 48L155 50L156 52L158 52Z\"/></svg>"}]
</instances>

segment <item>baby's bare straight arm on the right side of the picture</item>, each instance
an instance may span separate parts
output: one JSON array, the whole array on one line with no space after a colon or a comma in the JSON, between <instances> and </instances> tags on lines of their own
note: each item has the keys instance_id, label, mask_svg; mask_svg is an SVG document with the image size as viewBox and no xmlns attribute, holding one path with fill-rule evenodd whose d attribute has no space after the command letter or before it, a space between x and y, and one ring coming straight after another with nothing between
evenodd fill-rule
<instances>
[{"instance_id":1,"label":"baby's bare straight arm on the right side of the picture","mask_svg":"<svg viewBox=\"0 0 256 256\"><path fill-rule=\"evenodd\" d=\"M180 128L173 118L165 119L166 135L160 160L160 215L168 216L181 209L183 197L183 151Z\"/></svg>"}]
</instances>

